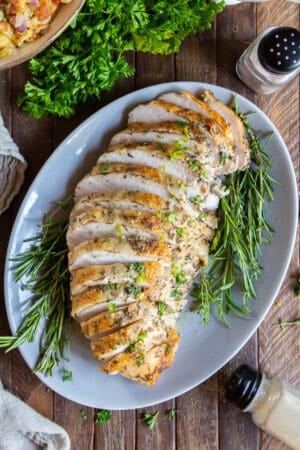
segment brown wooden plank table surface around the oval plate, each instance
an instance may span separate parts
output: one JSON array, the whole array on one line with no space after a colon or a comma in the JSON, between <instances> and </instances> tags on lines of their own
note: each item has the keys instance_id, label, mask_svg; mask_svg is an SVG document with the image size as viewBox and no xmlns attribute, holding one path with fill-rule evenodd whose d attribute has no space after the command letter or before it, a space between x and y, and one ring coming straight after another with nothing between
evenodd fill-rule
<instances>
[{"instance_id":1,"label":"brown wooden plank table surface around the oval plate","mask_svg":"<svg viewBox=\"0 0 300 450\"><path fill-rule=\"evenodd\" d=\"M258 106L279 129L299 175L299 80L268 97L256 96L236 77L234 66L239 55L257 33L273 25L299 28L299 6L286 0L245 3L231 6L220 14L211 31L188 38L177 55L169 57L132 54L128 58L136 74L122 81L93 106L78 109L69 120L34 120L16 107L16 97L27 79L26 65L0 75L0 109L6 126L28 161L26 181L12 207L0 218L1 279L6 246L18 206L34 176L53 149L82 120L111 100L144 86L173 80L202 81L237 91ZM273 327L280 318L299 317L299 300L293 294L299 274L299 240L280 294L267 317L245 347L219 373L186 394L153 406L160 420L150 431L141 421L144 410L115 411L105 425L94 424L94 411L88 419L80 417L82 406L65 400L43 385L31 373L18 351L0 352L0 376L5 387L24 399L46 417L62 425L70 434L73 450L283 450L286 447L260 432L247 414L223 399L224 375L242 362L259 366L300 384L299 327L283 331ZM3 291L3 289L1 289ZM1 296L3 293L1 292ZM261 299L263 301L263 299ZM278 306L280 305L280 306ZM4 300L0 300L0 334L8 334ZM178 410L176 420L166 412ZM11 449L13 450L13 449Z\"/></svg>"}]
</instances>

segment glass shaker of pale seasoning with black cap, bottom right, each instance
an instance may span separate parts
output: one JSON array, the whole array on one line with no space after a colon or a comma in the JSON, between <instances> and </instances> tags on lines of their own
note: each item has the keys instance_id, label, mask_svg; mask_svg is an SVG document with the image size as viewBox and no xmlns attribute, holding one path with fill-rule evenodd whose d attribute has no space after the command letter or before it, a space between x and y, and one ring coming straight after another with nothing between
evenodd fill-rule
<instances>
[{"instance_id":1,"label":"glass shaker of pale seasoning with black cap, bottom right","mask_svg":"<svg viewBox=\"0 0 300 450\"><path fill-rule=\"evenodd\" d=\"M246 364L231 375L225 396L253 422L294 449L300 449L300 389L264 374Z\"/></svg>"}]
</instances>

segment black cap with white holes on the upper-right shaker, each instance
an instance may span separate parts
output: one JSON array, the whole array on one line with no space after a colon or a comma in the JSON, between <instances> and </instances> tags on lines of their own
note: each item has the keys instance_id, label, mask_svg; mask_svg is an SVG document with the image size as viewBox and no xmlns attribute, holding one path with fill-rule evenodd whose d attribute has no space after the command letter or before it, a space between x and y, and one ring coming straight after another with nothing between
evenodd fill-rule
<instances>
[{"instance_id":1,"label":"black cap with white holes on the upper-right shaker","mask_svg":"<svg viewBox=\"0 0 300 450\"><path fill-rule=\"evenodd\" d=\"M284 74L300 66L300 32L278 27L264 36L258 46L258 58L270 72Z\"/></svg>"}]
</instances>

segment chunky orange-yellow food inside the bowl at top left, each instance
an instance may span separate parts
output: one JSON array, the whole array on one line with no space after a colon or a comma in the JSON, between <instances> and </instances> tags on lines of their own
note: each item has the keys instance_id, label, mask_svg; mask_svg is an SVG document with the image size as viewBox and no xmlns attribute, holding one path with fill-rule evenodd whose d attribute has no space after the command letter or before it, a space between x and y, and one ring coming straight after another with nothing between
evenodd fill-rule
<instances>
[{"instance_id":1,"label":"chunky orange-yellow food inside the bowl at top left","mask_svg":"<svg viewBox=\"0 0 300 450\"><path fill-rule=\"evenodd\" d=\"M0 0L0 57L34 41L45 30L60 3L71 0Z\"/></svg>"}]
</instances>

